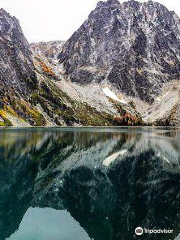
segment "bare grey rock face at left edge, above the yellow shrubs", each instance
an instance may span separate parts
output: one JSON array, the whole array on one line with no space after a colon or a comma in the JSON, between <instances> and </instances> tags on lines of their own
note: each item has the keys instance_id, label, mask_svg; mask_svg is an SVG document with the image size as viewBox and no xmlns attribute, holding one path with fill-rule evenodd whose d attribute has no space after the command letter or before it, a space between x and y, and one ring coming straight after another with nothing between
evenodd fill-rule
<instances>
[{"instance_id":1,"label":"bare grey rock face at left edge, above the yellow shrubs","mask_svg":"<svg viewBox=\"0 0 180 240\"><path fill-rule=\"evenodd\" d=\"M37 84L31 51L18 20L0 10L0 91L23 97Z\"/></svg>"}]
</instances>

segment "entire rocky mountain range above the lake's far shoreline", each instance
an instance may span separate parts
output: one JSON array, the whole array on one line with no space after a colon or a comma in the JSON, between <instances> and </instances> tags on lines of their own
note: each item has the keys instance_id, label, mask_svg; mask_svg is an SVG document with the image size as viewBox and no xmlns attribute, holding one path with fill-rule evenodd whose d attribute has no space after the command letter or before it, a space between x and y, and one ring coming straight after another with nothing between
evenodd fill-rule
<instances>
[{"instance_id":1,"label":"entire rocky mountain range above the lake's far shoreline","mask_svg":"<svg viewBox=\"0 0 180 240\"><path fill-rule=\"evenodd\" d=\"M163 5L99 2L66 42L29 44L0 10L0 125L180 125L180 20Z\"/></svg>"}]
</instances>

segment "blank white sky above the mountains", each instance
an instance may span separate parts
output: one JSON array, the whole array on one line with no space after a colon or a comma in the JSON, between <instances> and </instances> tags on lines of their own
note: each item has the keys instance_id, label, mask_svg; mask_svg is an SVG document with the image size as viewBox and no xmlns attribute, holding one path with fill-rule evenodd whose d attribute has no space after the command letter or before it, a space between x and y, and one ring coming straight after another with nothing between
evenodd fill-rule
<instances>
[{"instance_id":1,"label":"blank white sky above the mountains","mask_svg":"<svg viewBox=\"0 0 180 240\"><path fill-rule=\"evenodd\" d=\"M98 1L0 0L0 8L4 8L19 19L23 32L31 43L67 40L87 19ZM164 4L169 10L174 10L180 16L179 0L156 1Z\"/></svg>"}]
</instances>

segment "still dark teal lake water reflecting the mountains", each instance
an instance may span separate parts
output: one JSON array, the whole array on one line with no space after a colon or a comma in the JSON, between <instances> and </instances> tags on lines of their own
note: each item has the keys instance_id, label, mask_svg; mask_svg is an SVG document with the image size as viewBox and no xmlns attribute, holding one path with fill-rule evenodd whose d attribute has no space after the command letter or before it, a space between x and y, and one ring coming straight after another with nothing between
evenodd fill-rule
<instances>
[{"instance_id":1,"label":"still dark teal lake water reflecting the mountains","mask_svg":"<svg viewBox=\"0 0 180 240\"><path fill-rule=\"evenodd\" d=\"M1 129L5 239L180 240L180 130Z\"/></svg>"}]
</instances>

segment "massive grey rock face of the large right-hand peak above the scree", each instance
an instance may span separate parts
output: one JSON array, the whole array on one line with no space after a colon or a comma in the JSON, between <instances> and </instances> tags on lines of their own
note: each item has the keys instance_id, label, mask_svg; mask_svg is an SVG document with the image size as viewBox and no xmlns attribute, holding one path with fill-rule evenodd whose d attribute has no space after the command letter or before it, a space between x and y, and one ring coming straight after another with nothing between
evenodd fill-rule
<instances>
[{"instance_id":1,"label":"massive grey rock face of the large right-hand peak above the scree","mask_svg":"<svg viewBox=\"0 0 180 240\"><path fill-rule=\"evenodd\" d=\"M109 82L148 103L179 79L180 21L159 3L99 2L58 58L71 81Z\"/></svg>"}]
</instances>

